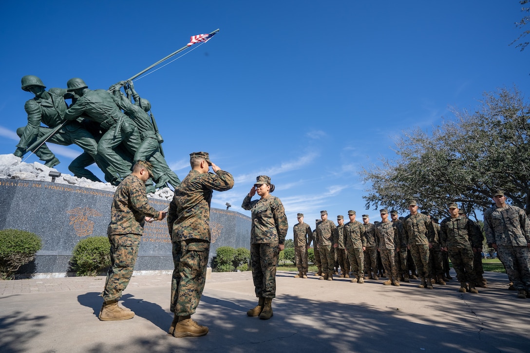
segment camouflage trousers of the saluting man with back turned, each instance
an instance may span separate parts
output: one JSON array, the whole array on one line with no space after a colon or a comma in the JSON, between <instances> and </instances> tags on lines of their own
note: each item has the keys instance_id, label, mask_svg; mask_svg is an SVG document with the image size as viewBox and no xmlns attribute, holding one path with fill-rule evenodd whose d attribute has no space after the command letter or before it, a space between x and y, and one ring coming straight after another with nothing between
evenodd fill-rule
<instances>
[{"instance_id":1,"label":"camouflage trousers of the saluting man with back turned","mask_svg":"<svg viewBox=\"0 0 530 353\"><path fill-rule=\"evenodd\" d=\"M179 316L195 313L206 281L210 243L198 239L173 240L173 277L170 311Z\"/></svg>"}]
</instances>

